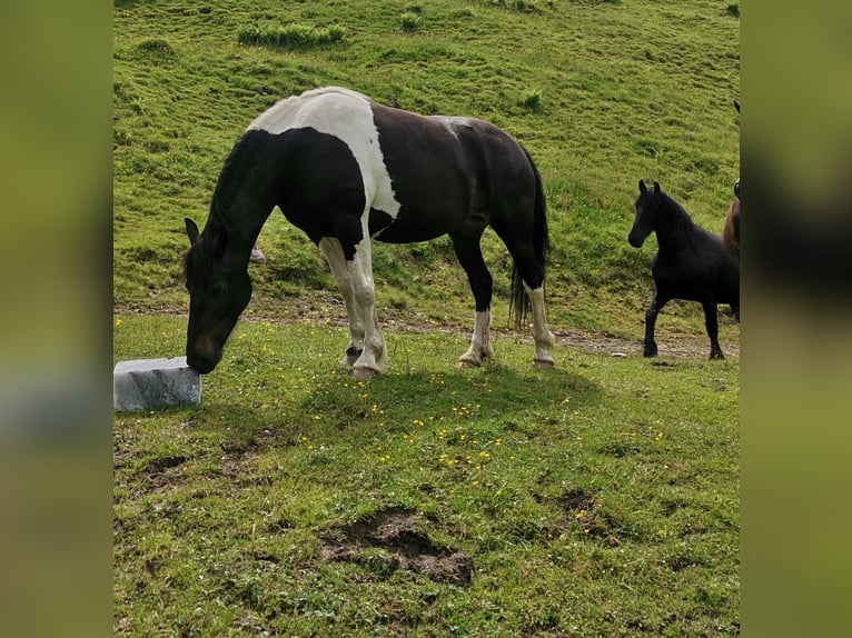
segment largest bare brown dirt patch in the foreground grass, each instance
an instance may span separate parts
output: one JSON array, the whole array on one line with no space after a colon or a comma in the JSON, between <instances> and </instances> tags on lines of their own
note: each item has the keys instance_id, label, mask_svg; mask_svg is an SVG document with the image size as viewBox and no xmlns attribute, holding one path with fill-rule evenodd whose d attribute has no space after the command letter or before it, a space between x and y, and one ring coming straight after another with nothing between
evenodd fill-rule
<instances>
[{"instance_id":1,"label":"largest bare brown dirt patch in the foreground grass","mask_svg":"<svg viewBox=\"0 0 852 638\"><path fill-rule=\"evenodd\" d=\"M386 556L376 555L384 550ZM370 551L373 550L373 552ZM423 530L416 512L389 508L358 520L321 539L326 561L357 562L389 576L397 569L423 574L436 582L470 584L473 559L455 548L436 546Z\"/></svg>"}]
</instances>

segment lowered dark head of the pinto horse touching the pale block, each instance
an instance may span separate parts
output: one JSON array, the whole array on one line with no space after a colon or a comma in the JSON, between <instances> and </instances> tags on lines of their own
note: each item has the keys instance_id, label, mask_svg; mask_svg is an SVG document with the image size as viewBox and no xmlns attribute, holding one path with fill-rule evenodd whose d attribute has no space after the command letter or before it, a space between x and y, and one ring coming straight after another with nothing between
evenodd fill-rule
<instances>
[{"instance_id":1,"label":"lowered dark head of the pinto horse touching the pale block","mask_svg":"<svg viewBox=\"0 0 852 638\"><path fill-rule=\"evenodd\" d=\"M221 360L225 341L251 299L247 265L230 257L227 231L210 227L199 235L186 220L189 252L184 265L189 291L187 363L206 375Z\"/></svg>"}]
</instances>

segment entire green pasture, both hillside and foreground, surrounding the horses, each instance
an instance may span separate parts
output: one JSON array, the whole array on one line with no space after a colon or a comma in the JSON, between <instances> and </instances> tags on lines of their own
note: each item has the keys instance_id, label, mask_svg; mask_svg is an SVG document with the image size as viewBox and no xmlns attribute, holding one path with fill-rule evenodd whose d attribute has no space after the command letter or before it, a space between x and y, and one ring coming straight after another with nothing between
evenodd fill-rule
<instances>
[{"instance_id":1,"label":"entire green pasture, both hillside and foreground, surrounding the horses","mask_svg":"<svg viewBox=\"0 0 852 638\"><path fill-rule=\"evenodd\" d=\"M731 3L113 3L113 360L184 352L184 218L280 98L341 84L499 126L548 202L556 368L493 362L447 238L374 248L385 373L353 381L321 255L274 212L200 407L116 415L113 630L185 636L739 634L739 327L705 360L626 240L640 178L721 232L739 176ZM604 342L593 351L583 343ZM579 346L576 346L579 343ZM618 350L627 357L612 357Z\"/></svg>"}]
</instances>

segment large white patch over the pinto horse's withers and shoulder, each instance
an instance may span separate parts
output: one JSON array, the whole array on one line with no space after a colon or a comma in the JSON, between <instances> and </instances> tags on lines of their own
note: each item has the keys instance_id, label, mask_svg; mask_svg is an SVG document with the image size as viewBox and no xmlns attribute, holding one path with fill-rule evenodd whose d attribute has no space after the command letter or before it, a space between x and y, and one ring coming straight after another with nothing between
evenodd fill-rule
<instances>
[{"instance_id":1,"label":"large white patch over the pinto horse's withers and shoulder","mask_svg":"<svg viewBox=\"0 0 852 638\"><path fill-rule=\"evenodd\" d=\"M258 116L247 130L277 134L301 128L311 128L345 142L358 162L367 208L397 218L399 202L394 195L373 109L366 96L340 87L306 91L277 102Z\"/></svg>"}]
</instances>

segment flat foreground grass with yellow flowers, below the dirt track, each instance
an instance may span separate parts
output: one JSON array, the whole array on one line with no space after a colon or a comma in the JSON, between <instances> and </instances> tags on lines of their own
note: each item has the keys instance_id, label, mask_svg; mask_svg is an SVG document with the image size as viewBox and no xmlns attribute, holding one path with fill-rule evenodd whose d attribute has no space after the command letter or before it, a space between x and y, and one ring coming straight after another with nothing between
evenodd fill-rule
<instances>
[{"instance_id":1,"label":"flat foreground grass with yellow flowers, below the dirt track","mask_svg":"<svg viewBox=\"0 0 852 638\"><path fill-rule=\"evenodd\" d=\"M186 329L116 323L116 360ZM558 351L538 371L504 336L460 370L460 336L386 335L364 383L345 330L244 322L201 406L116 416L116 634L739 634L737 363ZM354 542L402 515L469 582Z\"/></svg>"}]
</instances>

